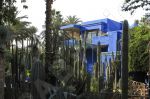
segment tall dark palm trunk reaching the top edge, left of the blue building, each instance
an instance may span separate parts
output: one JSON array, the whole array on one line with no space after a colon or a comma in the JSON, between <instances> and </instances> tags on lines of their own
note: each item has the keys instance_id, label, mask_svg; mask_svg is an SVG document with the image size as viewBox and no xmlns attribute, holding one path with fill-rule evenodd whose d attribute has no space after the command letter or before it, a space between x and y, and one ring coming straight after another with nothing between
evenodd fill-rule
<instances>
[{"instance_id":1,"label":"tall dark palm trunk reaching the top edge, left of the blue building","mask_svg":"<svg viewBox=\"0 0 150 99\"><path fill-rule=\"evenodd\" d=\"M51 53L52 53L52 33L51 33L51 12L52 12L53 0L46 0L46 31L45 31L45 72L46 81L48 81L49 67L52 65Z\"/></svg>"}]
</instances>

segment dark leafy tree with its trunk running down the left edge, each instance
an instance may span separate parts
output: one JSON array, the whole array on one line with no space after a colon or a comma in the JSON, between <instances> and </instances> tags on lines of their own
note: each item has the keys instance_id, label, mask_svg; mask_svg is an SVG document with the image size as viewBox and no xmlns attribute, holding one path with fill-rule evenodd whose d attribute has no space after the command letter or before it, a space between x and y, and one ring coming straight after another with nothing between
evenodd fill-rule
<instances>
[{"instance_id":1,"label":"dark leafy tree with its trunk running down the left edge","mask_svg":"<svg viewBox=\"0 0 150 99\"><path fill-rule=\"evenodd\" d=\"M9 26L16 24L17 8L14 5L16 0L0 0L0 99L4 99L4 61L6 44L10 38ZM6 59L7 60L7 59Z\"/></svg>"}]
</instances>

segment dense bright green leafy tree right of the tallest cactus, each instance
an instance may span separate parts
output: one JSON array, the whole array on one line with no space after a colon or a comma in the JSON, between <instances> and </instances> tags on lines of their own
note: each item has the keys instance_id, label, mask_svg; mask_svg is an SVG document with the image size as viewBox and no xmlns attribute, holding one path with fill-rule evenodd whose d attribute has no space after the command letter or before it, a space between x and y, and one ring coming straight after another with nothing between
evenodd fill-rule
<instances>
[{"instance_id":1,"label":"dense bright green leafy tree right of the tallest cactus","mask_svg":"<svg viewBox=\"0 0 150 99\"><path fill-rule=\"evenodd\" d=\"M150 41L150 28L146 25L139 25L129 32L129 70L148 71L147 45Z\"/></svg>"}]
</instances>

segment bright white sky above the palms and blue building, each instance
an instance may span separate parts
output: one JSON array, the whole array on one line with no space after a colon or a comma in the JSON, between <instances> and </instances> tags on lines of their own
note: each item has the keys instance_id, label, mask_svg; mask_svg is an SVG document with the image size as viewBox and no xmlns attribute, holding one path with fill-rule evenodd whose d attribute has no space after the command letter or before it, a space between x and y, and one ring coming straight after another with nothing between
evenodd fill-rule
<instances>
[{"instance_id":1,"label":"bright white sky above the palms and blue building","mask_svg":"<svg viewBox=\"0 0 150 99\"><path fill-rule=\"evenodd\" d=\"M83 22L110 18L116 21L127 19L129 24L134 20L141 19L144 11L137 10L133 15L130 12L121 11L121 6L124 0L55 0L52 8L61 11L65 18L66 16L76 15ZM38 33L42 30L45 24L45 0L27 0L27 10L23 10L22 5L17 3L20 11L20 16L27 15L28 21L37 27Z\"/></svg>"}]
</instances>

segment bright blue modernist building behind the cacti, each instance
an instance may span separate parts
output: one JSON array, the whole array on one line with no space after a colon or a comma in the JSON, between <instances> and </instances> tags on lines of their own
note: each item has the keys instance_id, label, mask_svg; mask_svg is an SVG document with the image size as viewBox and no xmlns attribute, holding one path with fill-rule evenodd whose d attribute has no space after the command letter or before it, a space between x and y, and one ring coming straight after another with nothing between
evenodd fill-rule
<instances>
[{"instance_id":1,"label":"bright blue modernist building behind the cacti","mask_svg":"<svg viewBox=\"0 0 150 99\"><path fill-rule=\"evenodd\" d=\"M62 26L61 29L71 36L71 39L66 40L69 46L78 44L79 40L81 40L82 45L86 42L85 63L88 72L92 71L93 65L97 61L96 46L101 46L101 64L106 64L106 61L109 62L112 59L112 53L115 56L116 52L121 50L121 22L106 18L83 22L80 25L70 24Z\"/></svg>"}]
</instances>

